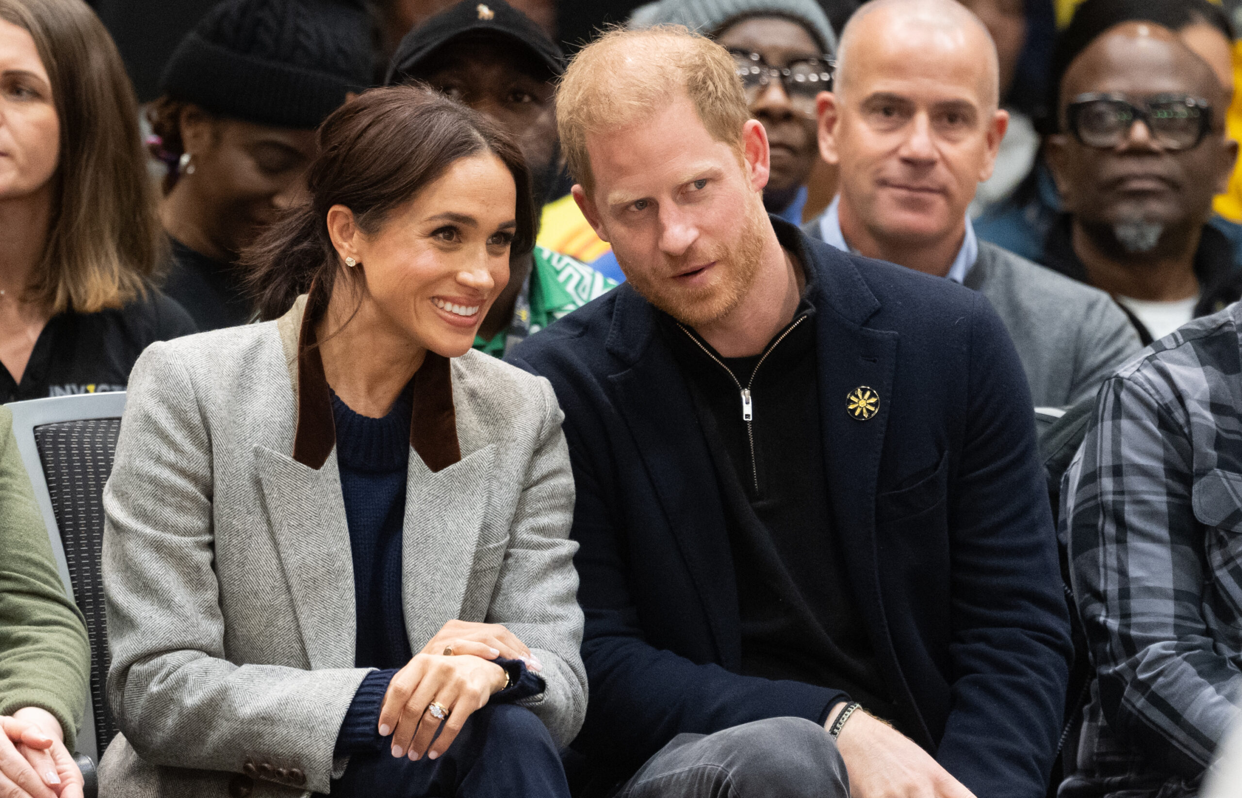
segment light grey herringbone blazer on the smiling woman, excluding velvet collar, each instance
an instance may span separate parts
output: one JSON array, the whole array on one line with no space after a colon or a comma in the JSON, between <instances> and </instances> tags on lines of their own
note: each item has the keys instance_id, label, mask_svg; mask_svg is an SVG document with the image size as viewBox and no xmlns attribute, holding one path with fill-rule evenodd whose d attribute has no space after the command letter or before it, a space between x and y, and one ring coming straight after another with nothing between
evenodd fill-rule
<instances>
[{"instance_id":1,"label":"light grey herringbone blazer on the smiling woman, excluding velvet collar","mask_svg":"<svg viewBox=\"0 0 1242 798\"><path fill-rule=\"evenodd\" d=\"M303 307L155 344L134 366L104 491L124 732L99 768L109 798L224 797L256 768L253 798L307 796L344 771L333 748L368 669L335 449L319 469L291 458ZM568 745L586 674L563 416L546 380L486 355L453 359L451 377L462 459L432 472L410 453L410 645L455 618L505 624L543 663L546 690L523 705Z\"/></svg>"}]
</instances>

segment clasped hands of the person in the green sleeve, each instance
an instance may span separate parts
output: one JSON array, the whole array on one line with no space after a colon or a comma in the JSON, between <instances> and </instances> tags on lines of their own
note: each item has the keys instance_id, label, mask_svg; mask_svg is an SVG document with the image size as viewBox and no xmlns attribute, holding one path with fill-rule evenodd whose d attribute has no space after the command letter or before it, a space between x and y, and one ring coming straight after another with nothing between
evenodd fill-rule
<instances>
[{"instance_id":1,"label":"clasped hands of the person in the green sleeve","mask_svg":"<svg viewBox=\"0 0 1242 798\"><path fill-rule=\"evenodd\" d=\"M27 706L0 717L0 792L21 798L82 798L82 773L56 717Z\"/></svg>"}]
</instances>

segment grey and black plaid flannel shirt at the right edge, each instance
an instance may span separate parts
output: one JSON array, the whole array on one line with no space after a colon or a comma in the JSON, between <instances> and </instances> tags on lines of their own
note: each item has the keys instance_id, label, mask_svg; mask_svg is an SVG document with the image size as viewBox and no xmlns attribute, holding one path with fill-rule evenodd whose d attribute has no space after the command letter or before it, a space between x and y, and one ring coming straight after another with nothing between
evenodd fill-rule
<instances>
[{"instance_id":1,"label":"grey and black plaid flannel shirt at the right edge","mask_svg":"<svg viewBox=\"0 0 1242 798\"><path fill-rule=\"evenodd\" d=\"M1095 679L1061 798L1194 796L1242 689L1242 303L1104 382L1061 530Z\"/></svg>"}]
</instances>

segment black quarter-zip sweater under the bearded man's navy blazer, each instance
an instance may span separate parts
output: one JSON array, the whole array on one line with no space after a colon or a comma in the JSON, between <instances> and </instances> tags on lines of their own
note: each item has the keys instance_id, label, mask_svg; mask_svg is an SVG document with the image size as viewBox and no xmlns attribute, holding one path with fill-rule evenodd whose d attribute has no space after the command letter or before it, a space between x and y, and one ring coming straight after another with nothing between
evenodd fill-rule
<instances>
[{"instance_id":1,"label":"black quarter-zip sweater under the bearded man's navy blazer","mask_svg":"<svg viewBox=\"0 0 1242 798\"><path fill-rule=\"evenodd\" d=\"M873 715L893 720L832 532L815 308L804 298L794 320L751 357L723 357L689 328L658 315L724 500L743 674L845 690Z\"/></svg>"}]
</instances>

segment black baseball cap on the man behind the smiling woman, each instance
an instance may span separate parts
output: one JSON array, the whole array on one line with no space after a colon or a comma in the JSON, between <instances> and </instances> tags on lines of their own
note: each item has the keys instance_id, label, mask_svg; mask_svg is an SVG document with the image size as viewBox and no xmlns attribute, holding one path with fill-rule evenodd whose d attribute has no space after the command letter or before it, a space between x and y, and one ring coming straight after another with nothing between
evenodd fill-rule
<instances>
[{"instance_id":1,"label":"black baseball cap on the man behind the smiling woman","mask_svg":"<svg viewBox=\"0 0 1242 798\"><path fill-rule=\"evenodd\" d=\"M455 38L478 36L514 42L527 50L549 77L565 71L565 53L542 27L504 0L462 0L401 38L384 82L400 83L419 65Z\"/></svg>"}]
</instances>

